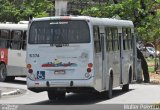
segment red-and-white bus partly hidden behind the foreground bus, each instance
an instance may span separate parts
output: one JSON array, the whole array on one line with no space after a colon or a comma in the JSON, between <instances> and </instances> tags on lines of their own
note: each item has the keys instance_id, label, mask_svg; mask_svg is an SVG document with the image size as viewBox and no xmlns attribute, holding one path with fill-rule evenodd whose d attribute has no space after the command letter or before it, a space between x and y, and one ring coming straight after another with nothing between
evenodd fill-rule
<instances>
[{"instance_id":1,"label":"red-and-white bus partly hidden behind the foreground bus","mask_svg":"<svg viewBox=\"0 0 160 110\"><path fill-rule=\"evenodd\" d=\"M0 81L26 76L26 33L28 24L0 24Z\"/></svg>"}]
</instances>

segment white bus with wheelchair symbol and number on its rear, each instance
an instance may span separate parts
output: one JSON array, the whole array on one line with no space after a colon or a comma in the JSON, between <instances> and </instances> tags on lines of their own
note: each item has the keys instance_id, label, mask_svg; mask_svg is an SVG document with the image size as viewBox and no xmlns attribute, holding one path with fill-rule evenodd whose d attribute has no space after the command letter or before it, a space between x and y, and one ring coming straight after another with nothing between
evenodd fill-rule
<instances>
[{"instance_id":1,"label":"white bus with wheelchair symbol and number on its rear","mask_svg":"<svg viewBox=\"0 0 160 110\"><path fill-rule=\"evenodd\" d=\"M35 18L27 41L27 87L50 100L66 92L129 90L134 75L132 21L87 16Z\"/></svg>"}]
</instances>

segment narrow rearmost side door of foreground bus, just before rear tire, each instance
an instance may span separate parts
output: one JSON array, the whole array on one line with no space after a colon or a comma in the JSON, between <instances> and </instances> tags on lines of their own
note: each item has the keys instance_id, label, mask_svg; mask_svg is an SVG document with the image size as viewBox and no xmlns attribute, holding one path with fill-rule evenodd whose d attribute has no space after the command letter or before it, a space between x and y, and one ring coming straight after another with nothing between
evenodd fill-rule
<instances>
[{"instance_id":1,"label":"narrow rearmost side door of foreground bus, just before rear tire","mask_svg":"<svg viewBox=\"0 0 160 110\"><path fill-rule=\"evenodd\" d=\"M106 90L106 66L105 66L105 35L104 27L100 27L100 44L101 44L101 55L102 55L102 90Z\"/></svg>"}]
</instances>

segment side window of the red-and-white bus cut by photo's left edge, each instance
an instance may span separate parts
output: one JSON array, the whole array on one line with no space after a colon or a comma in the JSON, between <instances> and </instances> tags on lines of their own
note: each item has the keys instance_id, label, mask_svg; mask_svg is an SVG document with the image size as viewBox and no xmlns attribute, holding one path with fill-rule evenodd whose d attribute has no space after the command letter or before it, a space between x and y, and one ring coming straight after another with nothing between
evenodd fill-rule
<instances>
[{"instance_id":1,"label":"side window of the red-and-white bus cut by photo's left edge","mask_svg":"<svg viewBox=\"0 0 160 110\"><path fill-rule=\"evenodd\" d=\"M10 38L9 30L0 30L0 47L8 48Z\"/></svg>"}]
</instances>

